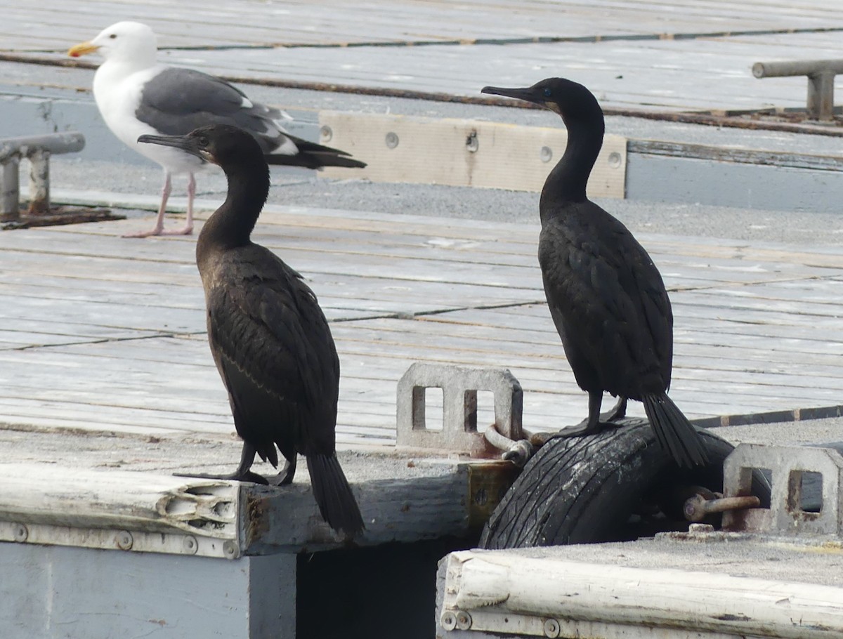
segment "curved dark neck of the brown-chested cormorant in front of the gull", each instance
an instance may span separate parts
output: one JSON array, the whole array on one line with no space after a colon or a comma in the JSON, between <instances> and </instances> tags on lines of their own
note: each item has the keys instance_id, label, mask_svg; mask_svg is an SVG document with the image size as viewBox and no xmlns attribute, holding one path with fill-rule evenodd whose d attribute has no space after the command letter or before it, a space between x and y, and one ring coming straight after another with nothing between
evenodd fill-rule
<instances>
[{"instance_id":1,"label":"curved dark neck of the brown-chested cormorant in front of the gull","mask_svg":"<svg viewBox=\"0 0 843 639\"><path fill-rule=\"evenodd\" d=\"M244 159L223 170L228 179L228 196L202 228L197 253L205 245L234 248L249 244L252 229L269 195L269 167L263 158Z\"/></svg>"}]
</instances>

